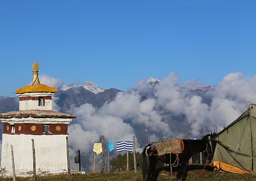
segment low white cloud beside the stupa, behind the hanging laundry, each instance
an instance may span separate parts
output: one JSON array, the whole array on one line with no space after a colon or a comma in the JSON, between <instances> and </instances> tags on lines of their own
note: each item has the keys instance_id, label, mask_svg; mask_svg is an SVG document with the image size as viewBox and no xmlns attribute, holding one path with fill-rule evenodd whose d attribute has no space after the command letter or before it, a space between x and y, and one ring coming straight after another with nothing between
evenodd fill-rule
<instances>
[{"instance_id":1,"label":"low white cloud beside the stupa, behind the hanging laundry","mask_svg":"<svg viewBox=\"0 0 256 181\"><path fill-rule=\"evenodd\" d=\"M74 108L73 113L77 119L75 124L69 126L70 157L75 157L77 150L81 150L83 160L86 162L84 166L86 170L92 170L93 143L101 142L102 135L105 137L105 146L109 141L132 141L135 135L133 128L121 118L102 114L91 104L83 104L79 108ZM77 169L75 164L71 167Z\"/></svg>"}]
</instances>

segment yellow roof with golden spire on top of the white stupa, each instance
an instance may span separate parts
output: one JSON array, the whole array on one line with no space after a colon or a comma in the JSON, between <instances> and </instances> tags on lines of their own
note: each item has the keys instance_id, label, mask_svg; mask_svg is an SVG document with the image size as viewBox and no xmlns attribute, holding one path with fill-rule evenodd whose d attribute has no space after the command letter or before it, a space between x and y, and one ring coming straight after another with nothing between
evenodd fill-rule
<instances>
[{"instance_id":1,"label":"yellow roof with golden spire on top of the white stupa","mask_svg":"<svg viewBox=\"0 0 256 181\"><path fill-rule=\"evenodd\" d=\"M21 87L17 89L17 94L23 94L23 93L57 93L57 88L46 86L44 84L40 84L39 78L38 78L38 69L39 65L37 64L37 61L33 64L33 79L31 81L31 84Z\"/></svg>"}]
</instances>

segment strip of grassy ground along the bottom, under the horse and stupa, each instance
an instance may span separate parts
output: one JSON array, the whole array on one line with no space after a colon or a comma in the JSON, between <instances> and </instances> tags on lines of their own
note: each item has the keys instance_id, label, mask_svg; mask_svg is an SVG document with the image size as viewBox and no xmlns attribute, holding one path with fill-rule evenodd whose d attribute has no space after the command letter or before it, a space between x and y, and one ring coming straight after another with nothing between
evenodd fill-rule
<instances>
[{"instance_id":1,"label":"strip of grassy ground along the bottom, under the horse and stupa","mask_svg":"<svg viewBox=\"0 0 256 181\"><path fill-rule=\"evenodd\" d=\"M157 180L171 180L171 173L168 171L161 171ZM12 178L0 178L0 180L12 180ZM33 180L31 177L17 177L17 181ZM139 171L134 173L132 171L110 172L105 174L78 174L73 173L69 178L67 174L37 176L37 180L142 180L142 173ZM175 172L172 174L172 180L175 179ZM209 171L209 170L191 170L188 172L187 180L256 180L255 175L248 174L230 174L223 171Z\"/></svg>"}]
</instances>

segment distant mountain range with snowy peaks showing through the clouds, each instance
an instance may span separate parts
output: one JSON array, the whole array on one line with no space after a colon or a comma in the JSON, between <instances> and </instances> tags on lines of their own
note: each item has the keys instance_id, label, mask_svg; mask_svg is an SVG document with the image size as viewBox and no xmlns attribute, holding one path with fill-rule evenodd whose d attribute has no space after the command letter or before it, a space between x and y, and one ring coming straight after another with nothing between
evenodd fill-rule
<instances>
[{"instance_id":1,"label":"distant mountain range with snowy peaks showing through the clouds","mask_svg":"<svg viewBox=\"0 0 256 181\"><path fill-rule=\"evenodd\" d=\"M154 77L150 77L146 80L149 84L157 85L159 81ZM206 104L211 103L211 97L207 95L207 92L214 89L214 86L201 84L196 80L187 81L181 84L182 88L189 89L191 95L201 96L203 102ZM101 108L101 106L105 103L111 102L115 99L115 96L118 92L122 92L116 88L103 89L93 83L93 81L87 81L84 84L68 84L62 86L58 93L54 94L55 103L58 106L58 111L63 113L70 113L71 108L73 106L79 107L82 104L89 103L94 106L94 108ZM147 98L147 95L143 95L144 98ZM6 97L0 96L0 113L17 111L19 110L19 101L18 97ZM174 134L178 133L188 133L190 129L190 125L187 123L186 119L182 115L173 115L168 111L164 110L156 110L161 114L164 121L171 125L171 129ZM145 135L149 135L149 129L146 129L143 125L137 125L133 123L131 120L124 120L126 123L129 123L133 129L135 130L135 134L137 135L139 142L142 144L147 143L147 138ZM161 138L162 135L158 134L157 137Z\"/></svg>"}]
</instances>

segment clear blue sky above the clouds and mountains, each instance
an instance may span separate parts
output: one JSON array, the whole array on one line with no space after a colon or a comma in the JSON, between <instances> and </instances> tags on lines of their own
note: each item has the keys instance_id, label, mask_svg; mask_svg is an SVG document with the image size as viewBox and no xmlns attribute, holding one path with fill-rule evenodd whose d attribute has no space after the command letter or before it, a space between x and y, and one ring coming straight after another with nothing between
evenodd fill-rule
<instances>
[{"instance_id":1,"label":"clear blue sky above the clouds and mountains","mask_svg":"<svg viewBox=\"0 0 256 181\"><path fill-rule=\"evenodd\" d=\"M1 1L0 95L39 74L125 91L140 79L255 75L255 1Z\"/></svg>"}]
</instances>

